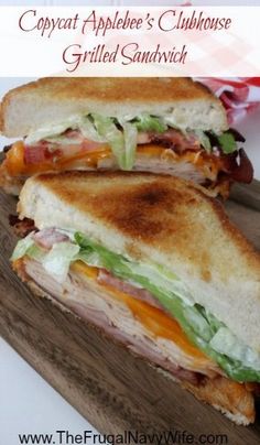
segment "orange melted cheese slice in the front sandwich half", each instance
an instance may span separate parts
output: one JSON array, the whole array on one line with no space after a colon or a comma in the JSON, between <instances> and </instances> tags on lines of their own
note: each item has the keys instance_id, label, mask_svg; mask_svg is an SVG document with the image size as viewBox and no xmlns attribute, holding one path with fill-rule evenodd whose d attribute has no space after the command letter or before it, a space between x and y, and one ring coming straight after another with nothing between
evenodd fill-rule
<instances>
[{"instance_id":1,"label":"orange melted cheese slice in the front sandwich half","mask_svg":"<svg viewBox=\"0 0 260 445\"><path fill-rule=\"evenodd\" d=\"M76 261L72 265L72 270L83 273L93 280L97 280L98 276L98 268L89 267L82 261ZM203 366L212 363L210 359L208 359L196 346L191 344L178 323L163 311L137 300L126 292L115 289L110 284L99 283L99 285L106 287L113 299L123 301L134 317L139 319L155 337L162 337L174 341L174 344L176 344L184 352L192 356L196 363L199 361L202 361Z\"/></svg>"}]
</instances>

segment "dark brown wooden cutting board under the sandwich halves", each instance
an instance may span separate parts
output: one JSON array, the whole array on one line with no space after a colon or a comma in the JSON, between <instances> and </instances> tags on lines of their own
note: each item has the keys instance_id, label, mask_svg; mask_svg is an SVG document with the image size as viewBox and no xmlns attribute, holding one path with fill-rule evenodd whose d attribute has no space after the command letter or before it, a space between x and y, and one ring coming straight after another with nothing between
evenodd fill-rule
<instances>
[{"instance_id":1,"label":"dark brown wooden cutting board under the sandwich halves","mask_svg":"<svg viewBox=\"0 0 260 445\"><path fill-rule=\"evenodd\" d=\"M260 183L254 182L235 191L232 198L239 203L226 205L231 219L258 249L259 197ZM15 199L0 193L0 334L99 432L187 431L196 438L199 434L226 435L228 442L223 436L218 444L260 443L260 406L254 425L235 426L93 326L33 296L9 264L17 240L8 216L15 211ZM209 441L206 443L213 443Z\"/></svg>"}]
</instances>

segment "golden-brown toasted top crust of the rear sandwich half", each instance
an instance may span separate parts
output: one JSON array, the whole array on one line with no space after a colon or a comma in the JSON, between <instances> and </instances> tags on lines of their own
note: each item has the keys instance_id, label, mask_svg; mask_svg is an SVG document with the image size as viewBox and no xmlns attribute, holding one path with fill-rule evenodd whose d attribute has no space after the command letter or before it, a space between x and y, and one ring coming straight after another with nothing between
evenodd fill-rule
<instances>
[{"instance_id":1,"label":"golden-brown toasted top crust of the rear sandwich half","mask_svg":"<svg viewBox=\"0 0 260 445\"><path fill-rule=\"evenodd\" d=\"M33 94L63 99L69 96L73 99L89 98L109 101L158 102L209 99L218 102L204 85L193 82L188 77L45 77L23 85L9 91L2 101L4 108L20 94ZM1 109L0 109L1 110Z\"/></svg>"}]
</instances>

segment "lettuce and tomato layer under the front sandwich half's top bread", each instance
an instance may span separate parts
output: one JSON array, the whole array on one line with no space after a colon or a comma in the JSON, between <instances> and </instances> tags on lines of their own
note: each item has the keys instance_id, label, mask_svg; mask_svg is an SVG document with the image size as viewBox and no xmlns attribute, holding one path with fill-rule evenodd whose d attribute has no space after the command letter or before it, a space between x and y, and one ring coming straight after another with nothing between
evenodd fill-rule
<instances>
[{"instance_id":1,"label":"lettuce and tomato layer under the front sandwich half's top bread","mask_svg":"<svg viewBox=\"0 0 260 445\"><path fill-rule=\"evenodd\" d=\"M188 343L201 358L203 355L216 363L220 372L239 382L260 381L260 355L238 339L221 321L196 304L185 283L165 267L133 262L80 232L55 228L33 231L20 240L12 260L22 258L39 262L57 283L65 282L75 268L87 270L99 283L130 294L132 299L138 296L154 314L159 311L162 318L166 316L169 327L172 326L169 332L174 323L174 326L177 324L182 339L185 338L184 344ZM130 299L128 304L131 305L131 301L134 300ZM139 310L134 311L138 315ZM142 313L141 306L140 311ZM145 319L145 323L154 324L153 316ZM166 326L165 318L161 326L162 329Z\"/></svg>"}]
</instances>

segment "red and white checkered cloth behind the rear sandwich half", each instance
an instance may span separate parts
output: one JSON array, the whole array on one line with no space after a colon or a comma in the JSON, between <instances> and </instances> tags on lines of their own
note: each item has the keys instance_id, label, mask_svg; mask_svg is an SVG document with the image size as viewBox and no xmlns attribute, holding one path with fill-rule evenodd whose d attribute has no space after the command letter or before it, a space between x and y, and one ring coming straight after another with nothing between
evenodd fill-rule
<instances>
[{"instance_id":1,"label":"red and white checkered cloth behind the rear sandwich half","mask_svg":"<svg viewBox=\"0 0 260 445\"><path fill-rule=\"evenodd\" d=\"M220 97L228 116L229 124L245 118L260 106L260 77L199 77L217 97Z\"/></svg>"}]
</instances>

